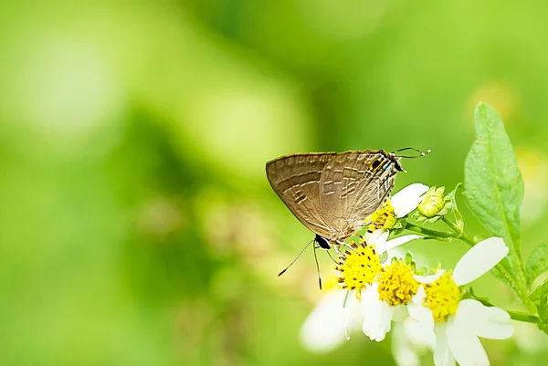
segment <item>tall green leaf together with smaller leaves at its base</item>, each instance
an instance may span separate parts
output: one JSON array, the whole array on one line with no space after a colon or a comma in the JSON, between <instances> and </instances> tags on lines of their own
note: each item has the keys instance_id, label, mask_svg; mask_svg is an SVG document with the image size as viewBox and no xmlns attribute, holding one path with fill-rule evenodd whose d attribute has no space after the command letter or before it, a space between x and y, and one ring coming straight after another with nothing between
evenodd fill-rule
<instances>
[{"instance_id":1,"label":"tall green leaf together with smaller leaves at its base","mask_svg":"<svg viewBox=\"0 0 548 366\"><path fill-rule=\"evenodd\" d=\"M532 293L525 292L536 277L548 270L548 244L537 246L523 268L520 209L524 187L511 141L501 118L487 104L479 103L474 123L477 139L465 162L469 208L490 234L501 236L510 247L511 260L501 262L497 275L511 285L530 310L536 306L544 324L548 281ZM543 325L539 328L546 331Z\"/></svg>"}]
</instances>

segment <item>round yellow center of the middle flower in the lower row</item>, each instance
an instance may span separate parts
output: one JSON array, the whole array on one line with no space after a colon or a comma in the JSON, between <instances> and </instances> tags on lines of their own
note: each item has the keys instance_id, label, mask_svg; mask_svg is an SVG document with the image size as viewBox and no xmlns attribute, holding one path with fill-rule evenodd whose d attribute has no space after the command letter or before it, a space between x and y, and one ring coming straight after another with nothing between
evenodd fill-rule
<instances>
[{"instance_id":1,"label":"round yellow center of the middle flower in the lower row","mask_svg":"<svg viewBox=\"0 0 548 366\"><path fill-rule=\"evenodd\" d=\"M391 307L405 305L418 289L418 282L411 273L411 267L403 260L392 262L379 275L379 298Z\"/></svg>"}]
</instances>

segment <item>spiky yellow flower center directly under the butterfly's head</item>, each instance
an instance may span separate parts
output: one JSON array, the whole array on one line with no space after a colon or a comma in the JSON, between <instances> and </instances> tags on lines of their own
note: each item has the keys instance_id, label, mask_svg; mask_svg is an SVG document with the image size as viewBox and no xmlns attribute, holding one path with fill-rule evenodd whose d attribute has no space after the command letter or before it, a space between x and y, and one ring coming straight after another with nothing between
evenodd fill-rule
<instances>
[{"instance_id":1,"label":"spiky yellow flower center directly under the butterfly's head","mask_svg":"<svg viewBox=\"0 0 548 366\"><path fill-rule=\"evenodd\" d=\"M353 247L352 251L347 250L346 256L341 256L339 266L335 267L340 273L339 283L342 288L356 290L356 295L359 296L362 288L366 284L371 285L374 278L383 270L380 258L374 251L374 246L365 245L364 240L361 240L360 246L354 242L350 243Z\"/></svg>"}]
</instances>

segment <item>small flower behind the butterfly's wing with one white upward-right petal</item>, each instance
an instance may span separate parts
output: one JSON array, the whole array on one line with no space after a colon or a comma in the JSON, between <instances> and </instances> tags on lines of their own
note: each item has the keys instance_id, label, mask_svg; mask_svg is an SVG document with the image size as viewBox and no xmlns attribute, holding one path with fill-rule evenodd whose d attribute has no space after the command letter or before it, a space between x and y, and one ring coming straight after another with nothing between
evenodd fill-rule
<instances>
[{"instance_id":1,"label":"small flower behind the butterfly's wing with one white upward-right petal","mask_svg":"<svg viewBox=\"0 0 548 366\"><path fill-rule=\"evenodd\" d=\"M375 236L381 235L395 227L397 220L410 214L421 201L428 186L423 183L412 183L386 200L378 210L365 219L365 224L374 228ZM374 240L375 241L375 240Z\"/></svg>"}]
</instances>

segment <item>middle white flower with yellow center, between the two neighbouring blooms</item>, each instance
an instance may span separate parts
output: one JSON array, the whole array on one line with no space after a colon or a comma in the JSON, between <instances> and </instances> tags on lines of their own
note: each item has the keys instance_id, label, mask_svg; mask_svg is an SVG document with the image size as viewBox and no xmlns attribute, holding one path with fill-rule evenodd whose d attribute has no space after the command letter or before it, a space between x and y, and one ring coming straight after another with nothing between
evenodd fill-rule
<instances>
[{"instance_id":1,"label":"middle white flower with yellow center, between the two neighbouring blooms","mask_svg":"<svg viewBox=\"0 0 548 366\"><path fill-rule=\"evenodd\" d=\"M392 240L386 240L389 233L384 232L375 237L380 256L385 251L401 246L406 242L420 238L420 235L404 235ZM373 235L372 235L373 236ZM372 283L366 283L362 291L362 311L364 324L362 330L370 340L385 340L390 331L392 321L402 321L407 316L406 304L416 294L419 283L413 277L410 267L403 261L395 261L378 272Z\"/></svg>"}]
</instances>

